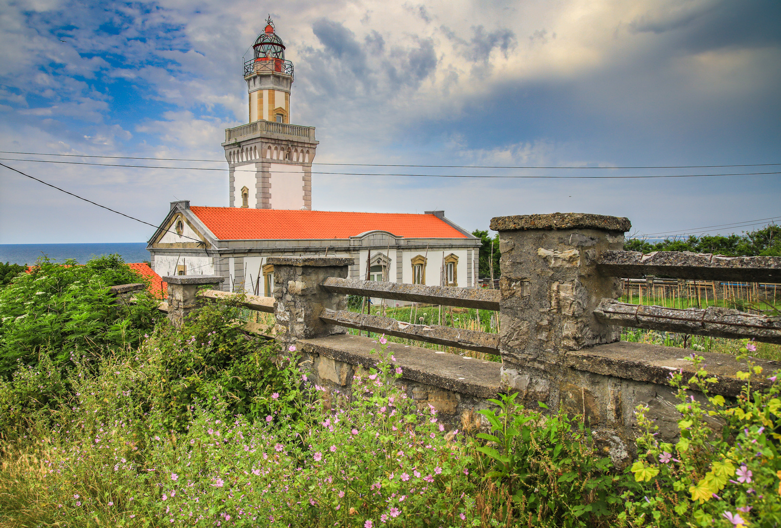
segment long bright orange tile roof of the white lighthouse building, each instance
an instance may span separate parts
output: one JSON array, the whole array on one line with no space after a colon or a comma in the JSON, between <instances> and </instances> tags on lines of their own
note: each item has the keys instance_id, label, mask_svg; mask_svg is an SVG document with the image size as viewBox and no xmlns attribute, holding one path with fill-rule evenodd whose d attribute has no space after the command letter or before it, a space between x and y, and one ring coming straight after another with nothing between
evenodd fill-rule
<instances>
[{"instance_id":1,"label":"long bright orange tile roof of the white lighthouse building","mask_svg":"<svg viewBox=\"0 0 781 528\"><path fill-rule=\"evenodd\" d=\"M372 230L405 238L466 238L434 215L200 206L190 210L219 240L349 238Z\"/></svg>"}]
</instances>

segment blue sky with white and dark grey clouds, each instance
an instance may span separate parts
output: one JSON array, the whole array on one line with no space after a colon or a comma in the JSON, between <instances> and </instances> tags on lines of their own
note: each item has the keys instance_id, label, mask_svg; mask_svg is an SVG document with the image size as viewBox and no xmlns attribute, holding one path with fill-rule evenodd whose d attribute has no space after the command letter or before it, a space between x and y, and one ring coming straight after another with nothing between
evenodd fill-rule
<instances>
[{"instance_id":1,"label":"blue sky with white and dark grey clouds","mask_svg":"<svg viewBox=\"0 0 781 528\"><path fill-rule=\"evenodd\" d=\"M592 212L651 237L781 219L781 165L726 167L781 163L777 0L0 0L0 150L216 160L0 162L155 225L176 200L228 205L220 144L248 121L242 55L269 14L316 162L440 166L316 164L313 209L444 209L468 230ZM726 173L742 175L592 178ZM0 167L0 244L153 231Z\"/></svg>"}]
</instances>

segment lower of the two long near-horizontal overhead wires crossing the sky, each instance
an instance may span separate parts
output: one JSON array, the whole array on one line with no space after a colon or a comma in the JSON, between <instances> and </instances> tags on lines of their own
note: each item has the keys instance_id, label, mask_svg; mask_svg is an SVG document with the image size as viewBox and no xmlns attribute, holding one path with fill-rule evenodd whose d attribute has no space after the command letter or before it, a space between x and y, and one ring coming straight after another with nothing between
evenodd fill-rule
<instances>
[{"instance_id":1,"label":"lower of the two long near-horizontal overhead wires crossing the sky","mask_svg":"<svg viewBox=\"0 0 781 528\"><path fill-rule=\"evenodd\" d=\"M222 170L215 167L171 167L171 166L152 166L152 165L128 165L122 163L91 163L91 162L63 162L52 159L17 159L17 158L0 158L5 161L16 162L37 162L37 163L63 163L66 165L91 165L91 166L107 166L107 167L128 167L137 169L177 169L177 170ZM271 171L279 173L287 173L287 171ZM764 173L719 173L719 174L646 174L640 176L533 176L525 174L512 174L512 175L498 175L498 174L408 174L408 173L330 173L323 171L312 171L312 174L323 174L332 176L396 176L396 177L415 177L415 178L490 178L494 180L633 180L644 178L701 178L701 177L718 177L718 176L761 176L767 174L781 174L781 171L764 172Z\"/></svg>"}]
</instances>

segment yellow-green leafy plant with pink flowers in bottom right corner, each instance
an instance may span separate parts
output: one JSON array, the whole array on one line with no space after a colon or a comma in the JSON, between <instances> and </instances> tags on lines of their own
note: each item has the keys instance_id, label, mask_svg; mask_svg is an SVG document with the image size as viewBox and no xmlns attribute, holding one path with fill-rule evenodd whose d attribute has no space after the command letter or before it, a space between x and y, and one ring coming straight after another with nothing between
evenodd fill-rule
<instances>
[{"instance_id":1,"label":"yellow-green leafy plant with pink flowers in bottom right corner","mask_svg":"<svg viewBox=\"0 0 781 528\"><path fill-rule=\"evenodd\" d=\"M745 342L739 359L747 359L754 344ZM683 371L670 374L681 413L676 444L659 441L657 426L637 408L644 434L637 439L640 459L631 467L637 487L626 491L626 512L632 526L778 526L781 523L781 458L779 408L781 387L769 376L763 387L752 380L765 376L761 366L747 361L745 380L734 401L710 395L717 380L692 355L696 373L684 380ZM768 383L769 382L769 383ZM690 393L696 389L701 398Z\"/></svg>"}]
</instances>

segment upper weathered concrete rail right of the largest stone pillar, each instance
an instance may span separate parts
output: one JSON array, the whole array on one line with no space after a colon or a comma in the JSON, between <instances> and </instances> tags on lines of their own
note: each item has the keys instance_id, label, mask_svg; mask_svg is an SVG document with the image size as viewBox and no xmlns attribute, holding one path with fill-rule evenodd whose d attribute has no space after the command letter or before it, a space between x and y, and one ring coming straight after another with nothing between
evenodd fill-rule
<instances>
[{"instance_id":1,"label":"upper weathered concrete rail right of the largest stone pillar","mask_svg":"<svg viewBox=\"0 0 781 528\"><path fill-rule=\"evenodd\" d=\"M602 252L599 273L626 279L647 275L695 280L781 283L781 257L725 257L710 253Z\"/></svg>"}]
</instances>

